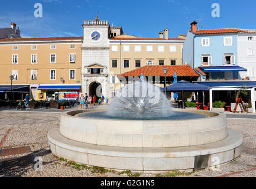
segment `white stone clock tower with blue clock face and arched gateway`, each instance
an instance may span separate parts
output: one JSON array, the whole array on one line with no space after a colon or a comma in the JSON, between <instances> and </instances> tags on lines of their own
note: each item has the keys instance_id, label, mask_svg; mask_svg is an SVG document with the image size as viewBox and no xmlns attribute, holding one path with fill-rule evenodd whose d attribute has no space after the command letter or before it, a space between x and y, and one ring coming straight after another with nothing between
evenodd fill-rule
<instances>
[{"instance_id":1,"label":"white stone clock tower with blue clock face and arched gateway","mask_svg":"<svg viewBox=\"0 0 256 189\"><path fill-rule=\"evenodd\" d=\"M109 96L109 33L108 21L84 21L82 44L82 93Z\"/></svg>"}]
</instances>

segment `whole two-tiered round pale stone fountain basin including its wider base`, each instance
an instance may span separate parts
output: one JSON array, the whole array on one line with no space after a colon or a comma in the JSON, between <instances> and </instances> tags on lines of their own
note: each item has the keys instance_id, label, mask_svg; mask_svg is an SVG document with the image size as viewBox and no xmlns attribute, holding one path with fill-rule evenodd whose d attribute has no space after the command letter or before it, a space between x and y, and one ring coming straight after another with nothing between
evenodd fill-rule
<instances>
[{"instance_id":1,"label":"whole two-tiered round pale stone fountain basin including its wider base","mask_svg":"<svg viewBox=\"0 0 256 189\"><path fill-rule=\"evenodd\" d=\"M61 114L60 129L48 133L53 154L115 170L170 171L223 164L242 151L242 136L227 128L221 113L176 110L176 115L199 113L200 118L129 120L106 119L102 111Z\"/></svg>"}]
</instances>

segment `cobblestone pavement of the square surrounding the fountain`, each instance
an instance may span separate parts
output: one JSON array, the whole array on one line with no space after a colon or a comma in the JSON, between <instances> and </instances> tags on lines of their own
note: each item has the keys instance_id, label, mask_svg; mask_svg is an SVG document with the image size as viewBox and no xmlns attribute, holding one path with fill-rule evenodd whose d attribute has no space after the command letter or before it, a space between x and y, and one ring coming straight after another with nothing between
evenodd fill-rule
<instances>
[{"instance_id":1,"label":"cobblestone pavement of the square surrounding the fountain","mask_svg":"<svg viewBox=\"0 0 256 189\"><path fill-rule=\"evenodd\" d=\"M104 106L102 106L104 107ZM101 108L102 108L101 107ZM75 107L74 109L79 109ZM174 171L161 174L135 174L129 171L118 174L112 170L80 166L66 159L59 159L48 150L47 133L59 127L60 113L1 111L0 113L0 149L30 146L32 153L0 157L7 160L7 167L1 168L0 177L256 177L256 119L228 118L228 127L243 135L241 157L221 165L215 170L187 172ZM43 170L34 171L31 157L43 158ZM80 169L80 170L79 170Z\"/></svg>"}]
</instances>

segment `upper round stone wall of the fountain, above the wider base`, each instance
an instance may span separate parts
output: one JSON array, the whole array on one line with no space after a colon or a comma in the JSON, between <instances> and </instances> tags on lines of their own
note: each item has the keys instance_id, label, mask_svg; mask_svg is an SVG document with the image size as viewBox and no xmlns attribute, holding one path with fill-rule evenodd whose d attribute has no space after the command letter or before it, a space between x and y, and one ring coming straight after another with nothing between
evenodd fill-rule
<instances>
[{"instance_id":1,"label":"upper round stone wall of the fountain, above the wider base","mask_svg":"<svg viewBox=\"0 0 256 189\"><path fill-rule=\"evenodd\" d=\"M151 120L106 119L102 112L105 110L63 113L61 135L88 144L132 148L202 145L228 136L225 115L212 112L183 110L174 113L170 119ZM193 116L199 118L192 119Z\"/></svg>"}]
</instances>

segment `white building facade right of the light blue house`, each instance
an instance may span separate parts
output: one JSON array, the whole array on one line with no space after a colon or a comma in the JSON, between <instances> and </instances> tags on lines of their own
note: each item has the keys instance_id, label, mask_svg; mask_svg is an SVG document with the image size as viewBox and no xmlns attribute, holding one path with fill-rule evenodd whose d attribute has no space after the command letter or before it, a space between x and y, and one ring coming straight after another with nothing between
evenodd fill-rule
<instances>
[{"instance_id":1,"label":"white building facade right of the light blue house","mask_svg":"<svg viewBox=\"0 0 256 189\"><path fill-rule=\"evenodd\" d=\"M256 30L243 30L238 33L238 66L247 71L239 72L239 79L249 77L256 81Z\"/></svg>"}]
</instances>

